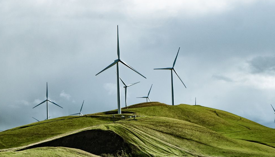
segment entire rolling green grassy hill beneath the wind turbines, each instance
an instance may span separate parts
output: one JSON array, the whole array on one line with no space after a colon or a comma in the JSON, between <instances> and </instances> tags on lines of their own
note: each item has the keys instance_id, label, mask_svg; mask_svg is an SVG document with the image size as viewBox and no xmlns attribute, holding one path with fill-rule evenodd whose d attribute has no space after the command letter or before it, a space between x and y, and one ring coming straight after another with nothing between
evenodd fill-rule
<instances>
[{"instance_id":1,"label":"entire rolling green grassy hill beneath the wind turbines","mask_svg":"<svg viewBox=\"0 0 275 157\"><path fill-rule=\"evenodd\" d=\"M122 109L125 117L139 116L135 119L116 113L65 116L0 132L0 156L47 154L51 149L60 156L77 151L87 153L82 156L133 157L275 154L275 129L226 111L150 102Z\"/></svg>"}]
</instances>

